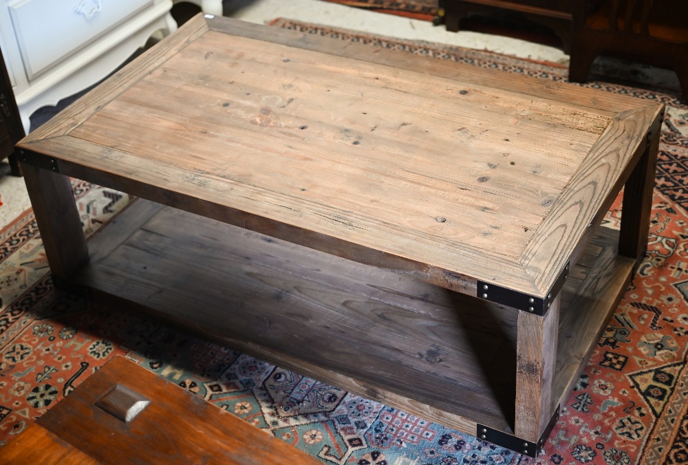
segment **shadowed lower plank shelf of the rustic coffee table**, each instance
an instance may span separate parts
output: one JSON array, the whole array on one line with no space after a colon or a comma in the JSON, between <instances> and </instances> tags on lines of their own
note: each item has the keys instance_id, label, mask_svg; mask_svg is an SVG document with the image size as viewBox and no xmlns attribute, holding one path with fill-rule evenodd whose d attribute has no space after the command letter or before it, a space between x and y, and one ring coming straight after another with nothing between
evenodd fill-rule
<instances>
[{"instance_id":1,"label":"shadowed lower plank shelf of the rustic coffee table","mask_svg":"<svg viewBox=\"0 0 688 465\"><path fill-rule=\"evenodd\" d=\"M563 290L557 399L630 280L615 241ZM142 199L89 251L76 283L129 308L459 431L513 431L516 310Z\"/></svg>"}]
</instances>

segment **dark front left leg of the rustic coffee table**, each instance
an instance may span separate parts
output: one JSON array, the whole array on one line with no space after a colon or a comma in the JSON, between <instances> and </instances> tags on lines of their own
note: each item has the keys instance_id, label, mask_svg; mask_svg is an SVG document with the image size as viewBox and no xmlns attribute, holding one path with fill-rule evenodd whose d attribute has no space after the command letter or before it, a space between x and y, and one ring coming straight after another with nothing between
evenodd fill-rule
<instances>
[{"instance_id":1,"label":"dark front left leg of the rustic coffee table","mask_svg":"<svg viewBox=\"0 0 688 465\"><path fill-rule=\"evenodd\" d=\"M67 279L88 262L88 248L69 177L21 163L45 255L54 277Z\"/></svg>"}]
</instances>

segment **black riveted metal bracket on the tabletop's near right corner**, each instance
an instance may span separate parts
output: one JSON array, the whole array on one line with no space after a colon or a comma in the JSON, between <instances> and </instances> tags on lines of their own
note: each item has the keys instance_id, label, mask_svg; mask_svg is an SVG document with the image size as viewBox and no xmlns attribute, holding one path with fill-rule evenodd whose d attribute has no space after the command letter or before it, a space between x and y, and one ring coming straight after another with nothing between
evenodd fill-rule
<instances>
[{"instance_id":1,"label":"black riveted metal bracket on the tabletop's near right corner","mask_svg":"<svg viewBox=\"0 0 688 465\"><path fill-rule=\"evenodd\" d=\"M484 281L477 281L477 296L480 299L485 299L486 301L491 301L494 303L499 303L501 305L506 305L507 307L513 307L517 310L522 310L524 312L529 312L539 316L544 316L549 310L552 301L556 299L557 294L566 283L566 278L568 277L570 262L566 263L557 281L552 284L547 295L543 297L536 297L532 295L525 294L524 292L515 291L509 288L503 288L502 286L486 283Z\"/></svg>"}]
</instances>

